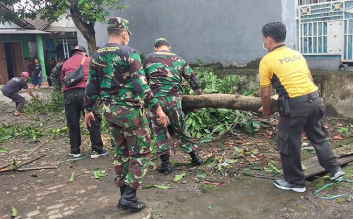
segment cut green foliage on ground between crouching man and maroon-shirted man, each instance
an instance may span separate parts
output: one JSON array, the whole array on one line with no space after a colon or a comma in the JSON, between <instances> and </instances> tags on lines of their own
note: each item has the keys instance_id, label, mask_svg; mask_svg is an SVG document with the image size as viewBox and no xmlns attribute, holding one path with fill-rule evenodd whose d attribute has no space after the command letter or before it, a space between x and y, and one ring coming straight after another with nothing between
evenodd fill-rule
<instances>
[{"instance_id":1,"label":"cut green foliage on ground between crouching man and maroon-shirted man","mask_svg":"<svg viewBox=\"0 0 353 219\"><path fill-rule=\"evenodd\" d=\"M63 100L61 90L52 89L49 98L36 95L36 99L29 100L25 105L25 112L40 115L61 114L64 112Z\"/></svg>"}]
</instances>

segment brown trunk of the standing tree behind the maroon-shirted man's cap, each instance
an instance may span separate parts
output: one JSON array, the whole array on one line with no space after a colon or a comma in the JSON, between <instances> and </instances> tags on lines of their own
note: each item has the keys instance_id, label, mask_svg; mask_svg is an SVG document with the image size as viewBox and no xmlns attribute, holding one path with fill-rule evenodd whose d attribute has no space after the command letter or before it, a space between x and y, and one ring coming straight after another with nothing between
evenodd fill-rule
<instances>
[{"instance_id":1,"label":"brown trunk of the standing tree behind the maroon-shirted man's cap","mask_svg":"<svg viewBox=\"0 0 353 219\"><path fill-rule=\"evenodd\" d=\"M71 0L71 5L72 7L69 7L69 9L70 9L72 21L74 22L77 29L79 29L83 37L86 39L87 45L88 45L88 53L90 56L92 56L97 49L96 32L94 31L94 23L89 23L89 24L85 23L85 21L83 21L79 16L79 9L77 5L73 4L72 0Z\"/></svg>"}]
</instances>

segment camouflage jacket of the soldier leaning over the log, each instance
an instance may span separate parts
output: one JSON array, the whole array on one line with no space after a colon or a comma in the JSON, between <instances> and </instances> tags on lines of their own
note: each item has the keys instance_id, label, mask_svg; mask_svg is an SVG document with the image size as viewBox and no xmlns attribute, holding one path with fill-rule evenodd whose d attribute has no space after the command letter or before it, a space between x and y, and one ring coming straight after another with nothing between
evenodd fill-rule
<instances>
[{"instance_id":1,"label":"camouflage jacket of the soldier leaning over the log","mask_svg":"<svg viewBox=\"0 0 353 219\"><path fill-rule=\"evenodd\" d=\"M191 67L185 60L168 51L154 52L146 55L144 69L147 81L156 97L182 96L184 77L191 88L200 93L201 87Z\"/></svg>"}]
</instances>

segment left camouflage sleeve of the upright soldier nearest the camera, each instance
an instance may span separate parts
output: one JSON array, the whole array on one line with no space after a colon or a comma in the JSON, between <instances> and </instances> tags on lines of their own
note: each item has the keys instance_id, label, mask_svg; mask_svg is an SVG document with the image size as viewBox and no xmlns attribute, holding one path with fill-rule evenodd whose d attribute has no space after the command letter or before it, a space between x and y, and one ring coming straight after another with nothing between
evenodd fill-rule
<instances>
[{"instance_id":1,"label":"left camouflage sleeve of the upright soldier nearest the camera","mask_svg":"<svg viewBox=\"0 0 353 219\"><path fill-rule=\"evenodd\" d=\"M94 58L89 62L89 71L87 85L85 88L84 106L86 111L91 112L99 95L99 77L96 72L96 60Z\"/></svg>"}]
</instances>

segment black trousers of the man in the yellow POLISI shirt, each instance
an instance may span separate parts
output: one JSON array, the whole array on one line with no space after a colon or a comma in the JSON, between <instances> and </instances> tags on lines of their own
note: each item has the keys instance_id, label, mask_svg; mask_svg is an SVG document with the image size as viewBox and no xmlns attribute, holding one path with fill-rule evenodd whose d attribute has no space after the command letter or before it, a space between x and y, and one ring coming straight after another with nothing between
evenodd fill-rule
<instances>
[{"instance_id":1,"label":"black trousers of the man in the yellow POLISI shirt","mask_svg":"<svg viewBox=\"0 0 353 219\"><path fill-rule=\"evenodd\" d=\"M321 124L325 107L318 97L290 105L290 116L281 116L279 119L277 148L280 151L284 179L291 184L305 185L301 163L303 130L315 148L320 165L329 172L340 167L326 139L327 132Z\"/></svg>"}]
</instances>

